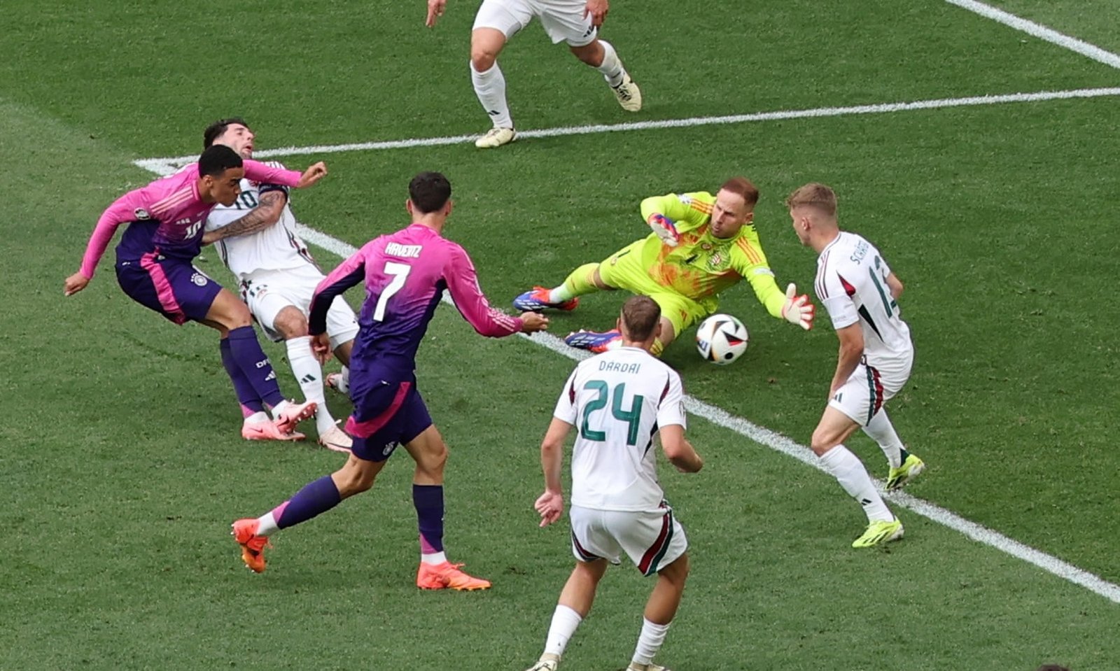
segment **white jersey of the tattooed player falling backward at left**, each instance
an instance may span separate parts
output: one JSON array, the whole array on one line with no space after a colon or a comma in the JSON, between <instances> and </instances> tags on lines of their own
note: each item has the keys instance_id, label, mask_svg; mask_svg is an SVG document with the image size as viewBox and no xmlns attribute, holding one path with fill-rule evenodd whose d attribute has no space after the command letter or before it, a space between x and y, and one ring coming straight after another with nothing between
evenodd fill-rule
<instances>
[{"instance_id":1,"label":"white jersey of the tattooed player falling backward at left","mask_svg":"<svg viewBox=\"0 0 1120 671\"><path fill-rule=\"evenodd\" d=\"M269 162L280 166L277 162ZM260 185L248 179L241 180L241 195L233 205L217 205L206 217L206 230L214 231L228 226L245 216L250 209L260 203L261 193L283 190L288 188L276 185ZM225 237L214 245L217 248L222 262L230 268L239 280L244 280L259 270L289 270L310 264L318 268L315 259L307 251L305 243L296 234L296 216L287 204L280 214L280 221L268 229L250 235Z\"/></svg>"}]
</instances>

